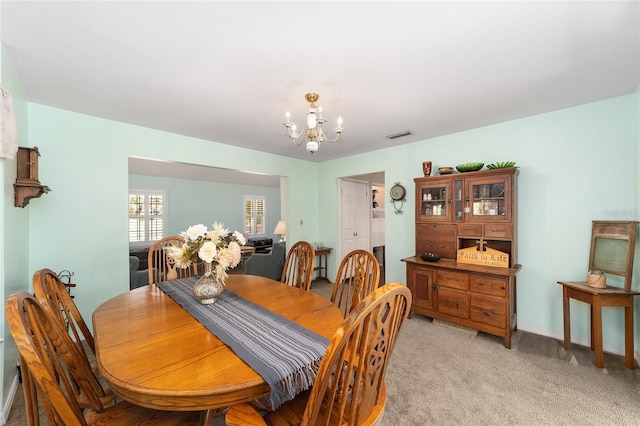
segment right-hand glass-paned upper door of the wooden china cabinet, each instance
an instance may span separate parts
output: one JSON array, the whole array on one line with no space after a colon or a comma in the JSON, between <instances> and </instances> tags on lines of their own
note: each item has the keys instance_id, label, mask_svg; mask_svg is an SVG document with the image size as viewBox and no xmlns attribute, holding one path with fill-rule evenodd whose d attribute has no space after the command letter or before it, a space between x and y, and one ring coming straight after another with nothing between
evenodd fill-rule
<instances>
[{"instance_id":1,"label":"right-hand glass-paned upper door of the wooden china cabinet","mask_svg":"<svg viewBox=\"0 0 640 426\"><path fill-rule=\"evenodd\" d=\"M503 222L511 220L511 200L505 178L466 180L464 214L466 221Z\"/></svg>"}]
</instances>

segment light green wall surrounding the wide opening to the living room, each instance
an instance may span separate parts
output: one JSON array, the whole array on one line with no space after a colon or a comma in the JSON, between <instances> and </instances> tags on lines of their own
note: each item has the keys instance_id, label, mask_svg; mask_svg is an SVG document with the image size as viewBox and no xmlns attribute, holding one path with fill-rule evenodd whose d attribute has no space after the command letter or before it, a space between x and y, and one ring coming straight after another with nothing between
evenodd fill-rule
<instances>
[{"instance_id":1,"label":"light green wall surrounding the wide opening to the living room","mask_svg":"<svg viewBox=\"0 0 640 426\"><path fill-rule=\"evenodd\" d=\"M130 155L191 164L286 174L296 194L287 212L304 218L292 241L317 228L317 165L228 145L30 104L31 143L40 148L40 180L52 192L30 205L29 270L75 272L75 301L86 318L128 289L127 191ZM251 165L248 167L248 165ZM283 173L283 171L285 173ZM225 199L224 193L211 194ZM194 194L198 196L198 194ZM204 197L208 195L199 194ZM210 217L209 221L215 220Z\"/></svg>"}]
</instances>

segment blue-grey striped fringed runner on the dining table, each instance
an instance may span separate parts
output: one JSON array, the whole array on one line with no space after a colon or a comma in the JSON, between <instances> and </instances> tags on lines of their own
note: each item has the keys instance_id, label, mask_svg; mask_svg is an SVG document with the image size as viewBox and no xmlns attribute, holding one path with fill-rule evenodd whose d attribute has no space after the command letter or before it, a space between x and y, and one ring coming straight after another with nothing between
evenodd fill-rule
<instances>
[{"instance_id":1,"label":"blue-grey striped fringed runner on the dining table","mask_svg":"<svg viewBox=\"0 0 640 426\"><path fill-rule=\"evenodd\" d=\"M202 305L191 291L198 278L157 285L262 376L272 409L313 385L329 339L229 290Z\"/></svg>"}]
</instances>

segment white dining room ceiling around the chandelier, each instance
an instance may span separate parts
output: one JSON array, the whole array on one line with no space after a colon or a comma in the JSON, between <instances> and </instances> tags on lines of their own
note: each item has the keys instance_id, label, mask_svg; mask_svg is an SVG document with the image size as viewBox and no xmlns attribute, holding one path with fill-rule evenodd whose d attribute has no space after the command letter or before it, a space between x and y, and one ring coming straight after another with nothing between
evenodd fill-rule
<instances>
[{"instance_id":1,"label":"white dining room ceiling around the chandelier","mask_svg":"<svg viewBox=\"0 0 640 426\"><path fill-rule=\"evenodd\" d=\"M639 2L0 3L27 98L326 161L634 92ZM310 156L320 94L341 141ZM387 135L408 130L410 136Z\"/></svg>"}]
</instances>

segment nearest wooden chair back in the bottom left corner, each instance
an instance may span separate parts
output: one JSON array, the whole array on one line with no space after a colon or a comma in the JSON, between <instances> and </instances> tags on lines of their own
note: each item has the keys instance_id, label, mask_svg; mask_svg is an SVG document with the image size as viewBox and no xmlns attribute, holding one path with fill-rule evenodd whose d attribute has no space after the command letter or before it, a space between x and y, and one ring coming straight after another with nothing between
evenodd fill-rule
<instances>
[{"instance_id":1,"label":"nearest wooden chair back in the bottom left corner","mask_svg":"<svg viewBox=\"0 0 640 426\"><path fill-rule=\"evenodd\" d=\"M25 391L33 392L32 398L36 390L43 396L40 402L48 423L82 425L84 408L102 411L102 387L58 320L26 292L10 296L5 310L20 353ZM37 403L27 404L30 424L38 424L36 407Z\"/></svg>"}]
</instances>

